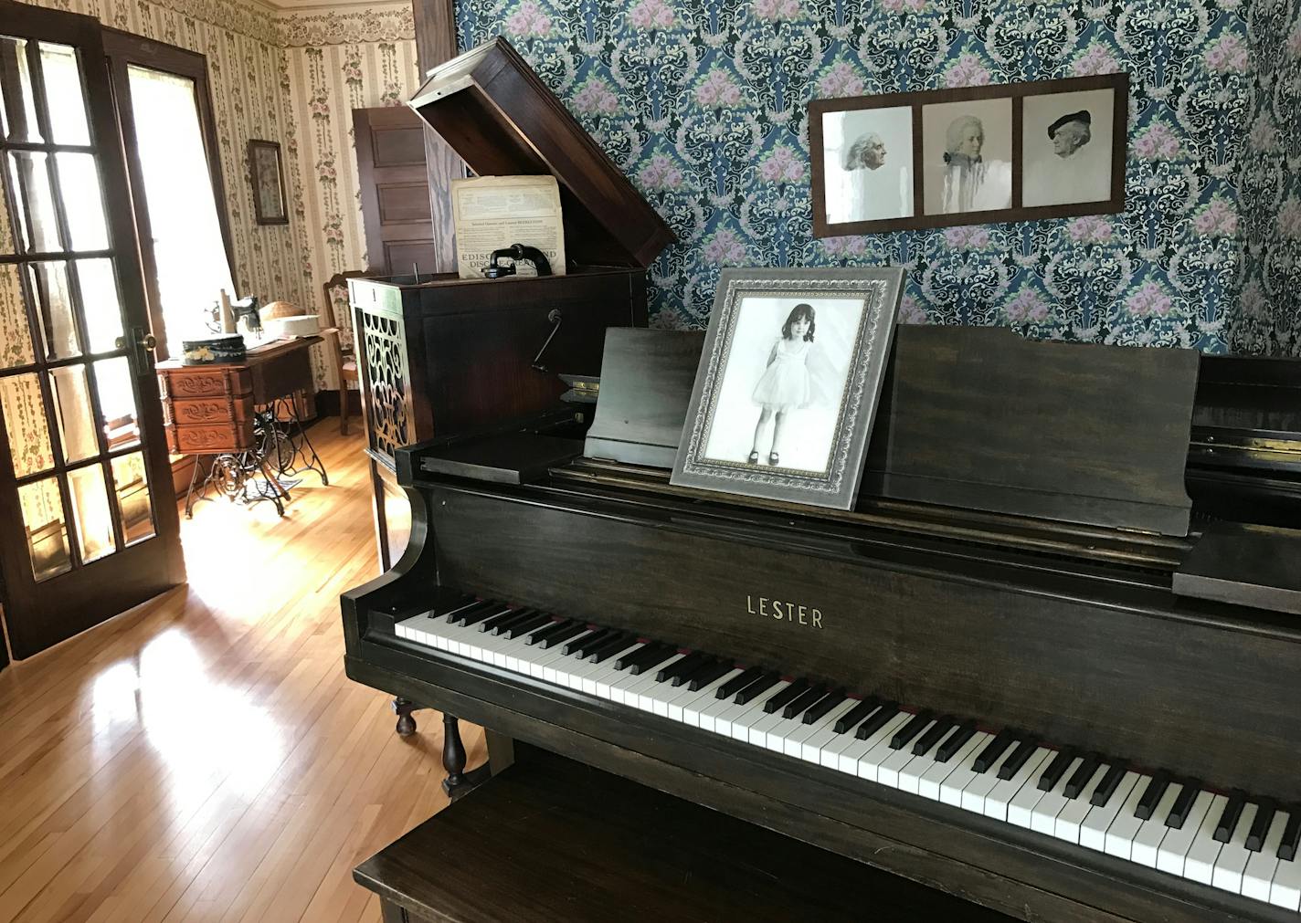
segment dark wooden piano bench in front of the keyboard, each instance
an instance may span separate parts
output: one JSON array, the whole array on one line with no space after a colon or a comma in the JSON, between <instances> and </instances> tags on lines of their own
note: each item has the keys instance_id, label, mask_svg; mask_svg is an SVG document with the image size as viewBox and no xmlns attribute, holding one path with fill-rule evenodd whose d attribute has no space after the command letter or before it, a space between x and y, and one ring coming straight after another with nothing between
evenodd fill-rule
<instances>
[{"instance_id":1,"label":"dark wooden piano bench in front of the keyboard","mask_svg":"<svg viewBox=\"0 0 1301 923\"><path fill-rule=\"evenodd\" d=\"M1010 919L518 741L353 878L384 923Z\"/></svg>"}]
</instances>

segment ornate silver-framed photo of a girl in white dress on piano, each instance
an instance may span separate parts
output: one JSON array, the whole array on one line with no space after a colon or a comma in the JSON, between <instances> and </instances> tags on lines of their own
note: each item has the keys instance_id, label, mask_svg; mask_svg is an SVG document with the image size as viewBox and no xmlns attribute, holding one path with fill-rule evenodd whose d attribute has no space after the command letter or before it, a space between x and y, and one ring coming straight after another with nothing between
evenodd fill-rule
<instances>
[{"instance_id":1,"label":"ornate silver-framed photo of a girl in white dress on piano","mask_svg":"<svg viewBox=\"0 0 1301 923\"><path fill-rule=\"evenodd\" d=\"M903 280L723 269L670 484L852 508Z\"/></svg>"}]
</instances>

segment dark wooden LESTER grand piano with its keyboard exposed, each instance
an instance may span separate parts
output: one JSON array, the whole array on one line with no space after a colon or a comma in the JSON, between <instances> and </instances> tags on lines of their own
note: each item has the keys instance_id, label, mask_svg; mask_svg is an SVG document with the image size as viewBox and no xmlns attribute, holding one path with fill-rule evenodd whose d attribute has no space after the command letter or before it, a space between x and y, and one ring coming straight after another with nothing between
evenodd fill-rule
<instances>
[{"instance_id":1,"label":"dark wooden LESTER grand piano with its keyboard exposed","mask_svg":"<svg viewBox=\"0 0 1301 923\"><path fill-rule=\"evenodd\" d=\"M349 676L1015 918L1301 919L1301 363L900 328L883 387L848 512L572 407L401 450Z\"/></svg>"}]
</instances>

